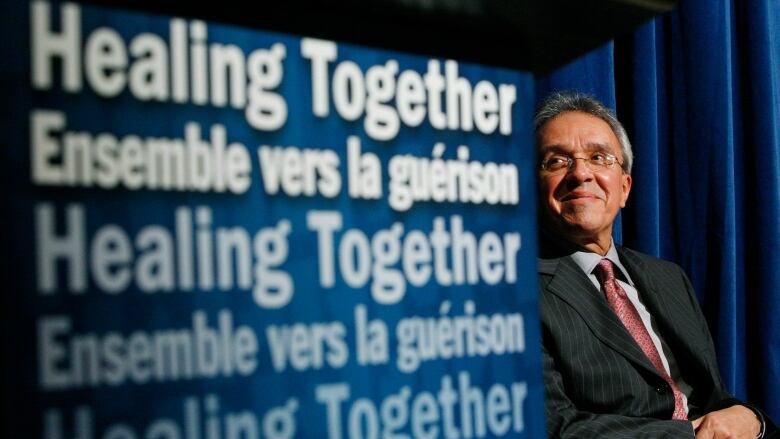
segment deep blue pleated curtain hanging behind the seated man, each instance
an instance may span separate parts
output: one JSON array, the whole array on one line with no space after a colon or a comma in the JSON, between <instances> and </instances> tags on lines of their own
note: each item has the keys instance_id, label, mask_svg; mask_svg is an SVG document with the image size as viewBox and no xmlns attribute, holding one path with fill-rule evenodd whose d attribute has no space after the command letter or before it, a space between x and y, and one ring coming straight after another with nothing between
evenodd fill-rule
<instances>
[{"instance_id":1,"label":"deep blue pleated curtain hanging behind the seated man","mask_svg":"<svg viewBox=\"0 0 780 439\"><path fill-rule=\"evenodd\" d=\"M780 420L780 2L681 1L536 85L572 89L632 139L616 241L686 270L728 388Z\"/></svg>"}]
</instances>

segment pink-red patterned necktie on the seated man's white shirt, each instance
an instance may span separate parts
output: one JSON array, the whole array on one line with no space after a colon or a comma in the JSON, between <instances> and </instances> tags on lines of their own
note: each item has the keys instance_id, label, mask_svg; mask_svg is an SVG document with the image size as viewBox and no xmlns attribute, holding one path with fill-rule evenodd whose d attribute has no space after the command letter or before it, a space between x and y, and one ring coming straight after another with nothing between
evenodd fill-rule
<instances>
[{"instance_id":1,"label":"pink-red patterned necktie on the seated man's white shirt","mask_svg":"<svg viewBox=\"0 0 780 439\"><path fill-rule=\"evenodd\" d=\"M672 419L688 419L685 414L685 407L683 405L682 392L674 383L674 380L666 373L661 356L658 354L658 350L653 344L653 340L650 338L650 334L647 332L647 328L642 323L642 319L639 317L631 300L626 295L625 290L615 279L615 271L612 266L612 261L609 259L602 259L599 265L596 267L596 275L601 281L601 287L607 296L607 302L609 306L615 311L620 321L623 322L623 326L626 327L631 337L637 342L642 352L647 355L647 358L653 363L656 369L661 373L669 387L672 388L674 393L674 413Z\"/></svg>"}]
</instances>

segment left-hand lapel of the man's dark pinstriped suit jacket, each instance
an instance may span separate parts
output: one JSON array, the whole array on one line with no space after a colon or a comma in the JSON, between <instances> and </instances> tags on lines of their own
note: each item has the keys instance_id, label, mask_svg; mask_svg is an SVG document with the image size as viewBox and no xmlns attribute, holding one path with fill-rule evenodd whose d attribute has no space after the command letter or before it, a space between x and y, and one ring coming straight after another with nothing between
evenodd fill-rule
<instances>
[{"instance_id":1,"label":"left-hand lapel of the man's dark pinstriped suit jacket","mask_svg":"<svg viewBox=\"0 0 780 439\"><path fill-rule=\"evenodd\" d=\"M660 376L601 292L570 257L540 259L539 272L552 275L546 289L574 308L602 343L638 367Z\"/></svg>"}]
</instances>

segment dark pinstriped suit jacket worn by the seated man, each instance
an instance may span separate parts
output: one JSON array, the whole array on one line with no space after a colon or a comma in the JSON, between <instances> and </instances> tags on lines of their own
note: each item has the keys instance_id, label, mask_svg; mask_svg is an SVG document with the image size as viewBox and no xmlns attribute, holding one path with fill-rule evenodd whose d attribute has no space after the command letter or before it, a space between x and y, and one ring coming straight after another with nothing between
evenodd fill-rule
<instances>
[{"instance_id":1,"label":"dark pinstriped suit jacket worn by the seated man","mask_svg":"<svg viewBox=\"0 0 780 439\"><path fill-rule=\"evenodd\" d=\"M693 389L689 417L739 404L723 385L707 323L683 270L626 248L618 254ZM539 279L549 436L693 437L690 422L671 420L669 385L571 257L543 250Z\"/></svg>"}]
</instances>

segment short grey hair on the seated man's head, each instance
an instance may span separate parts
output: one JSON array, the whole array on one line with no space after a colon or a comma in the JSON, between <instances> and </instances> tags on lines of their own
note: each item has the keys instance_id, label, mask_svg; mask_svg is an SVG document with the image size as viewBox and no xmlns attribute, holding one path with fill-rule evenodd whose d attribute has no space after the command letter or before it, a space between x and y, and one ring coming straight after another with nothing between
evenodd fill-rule
<instances>
[{"instance_id":1,"label":"short grey hair on the seated man's head","mask_svg":"<svg viewBox=\"0 0 780 439\"><path fill-rule=\"evenodd\" d=\"M555 92L549 95L542 101L534 115L534 134L539 134L539 130L544 124L567 111L591 114L612 128L623 153L623 171L630 175L631 166L634 164L634 153L631 151L631 142L628 140L626 129L617 120L615 113L592 95L572 91Z\"/></svg>"}]
</instances>

